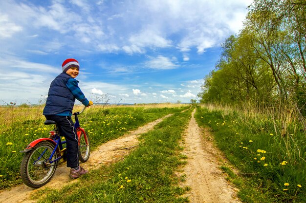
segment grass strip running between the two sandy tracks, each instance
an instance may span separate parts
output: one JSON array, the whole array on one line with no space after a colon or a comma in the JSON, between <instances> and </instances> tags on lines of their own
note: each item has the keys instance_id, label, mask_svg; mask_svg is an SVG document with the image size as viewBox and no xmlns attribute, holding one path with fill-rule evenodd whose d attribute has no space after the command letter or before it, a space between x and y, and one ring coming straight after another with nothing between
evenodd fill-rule
<instances>
[{"instance_id":1,"label":"grass strip running between the two sandy tracks","mask_svg":"<svg viewBox=\"0 0 306 203\"><path fill-rule=\"evenodd\" d=\"M180 197L190 188L176 186L174 175L185 163L180 154L181 134L192 110L175 113L140 137L139 147L111 166L90 171L64 188L47 188L36 194L39 203L187 203Z\"/></svg>"}]
</instances>

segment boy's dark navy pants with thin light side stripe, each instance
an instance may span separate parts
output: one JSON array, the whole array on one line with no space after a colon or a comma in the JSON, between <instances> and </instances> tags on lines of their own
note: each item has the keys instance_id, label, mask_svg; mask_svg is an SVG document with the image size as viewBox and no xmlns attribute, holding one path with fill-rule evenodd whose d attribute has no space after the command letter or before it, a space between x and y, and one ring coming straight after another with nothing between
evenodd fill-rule
<instances>
[{"instance_id":1,"label":"boy's dark navy pants with thin light side stripe","mask_svg":"<svg viewBox=\"0 0 306 203\"><path fill-rule=\"evenodd\" d=\"M60 135L66 139L67 167L76 168L79 166L79 145L78 136L71 116L45 115L46 119L57 123Z\"/></svg>"}]
</instances>

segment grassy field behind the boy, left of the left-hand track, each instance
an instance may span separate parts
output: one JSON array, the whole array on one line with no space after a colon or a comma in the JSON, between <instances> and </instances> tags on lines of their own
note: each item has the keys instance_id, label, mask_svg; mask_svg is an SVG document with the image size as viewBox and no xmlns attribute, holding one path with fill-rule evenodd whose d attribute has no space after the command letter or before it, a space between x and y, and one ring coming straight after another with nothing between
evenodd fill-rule
<instances>
[{"instance_id":1,"label":"grassy field behind the boy, left of the left-hand track","mask_svg":"<svg viewBox=\"0 0 306 203\"><path fill-rule=\"evenodd\" d=\"M82 107L76 106L75 111ZM189 108L188 105L159 104L147 106L102 107L93 106L79 116L81 127L85 128L91 141L91 149L115 139L131 129L154 119ZM44 126L43 107L0 108L0 188L21 184L20 153L28 143L48 137L53 126Z\"/></svg>"}]
</instances>

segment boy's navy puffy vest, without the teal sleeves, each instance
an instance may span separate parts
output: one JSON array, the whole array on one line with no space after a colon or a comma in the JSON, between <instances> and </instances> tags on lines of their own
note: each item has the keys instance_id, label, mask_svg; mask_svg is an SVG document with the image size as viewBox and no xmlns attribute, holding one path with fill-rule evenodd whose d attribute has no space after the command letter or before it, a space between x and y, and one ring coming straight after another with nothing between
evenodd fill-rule
<instances>
[{"instance_id":1,"label":"boy's navy puffy vest, without the teal sleeves","mask_svg":"<svg viewBox=\"0 0 306 203\"><path fill-rule=\"evenodd\" d=\"M64 111L72 113L75 97L66 86L69 78L73 77L66 73L61 73L51 82L43 111L44 115L55 115Z\"/></svg>"}]
</instances>

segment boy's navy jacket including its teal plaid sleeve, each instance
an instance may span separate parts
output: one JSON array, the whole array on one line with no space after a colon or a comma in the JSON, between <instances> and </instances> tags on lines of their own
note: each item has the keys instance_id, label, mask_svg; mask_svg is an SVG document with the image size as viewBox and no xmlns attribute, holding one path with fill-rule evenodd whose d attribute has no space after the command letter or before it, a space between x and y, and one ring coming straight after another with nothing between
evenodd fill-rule
<instances>
[{"instance_id":1,"label":"boy's navy jacket including its teal plaid sleeve","mask_svg":"<svg viewBox=\"0 0 306 203\"><path fill-rule=\"evenodd\" d=\"M78 86L76 79L66 73L59 74L52 82L44 107L44 115L72 115L75 99L87 106L89 101Z\"/></svg>"}]
</instances>

